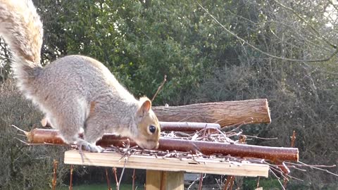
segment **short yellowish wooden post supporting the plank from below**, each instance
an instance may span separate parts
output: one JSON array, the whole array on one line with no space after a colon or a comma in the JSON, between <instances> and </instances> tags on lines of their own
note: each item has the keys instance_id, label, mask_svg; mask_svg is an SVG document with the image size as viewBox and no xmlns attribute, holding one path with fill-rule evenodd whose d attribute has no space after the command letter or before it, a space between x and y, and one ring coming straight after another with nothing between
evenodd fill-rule
<instances>
[{"instance_id":1,"label":"short yellowish wooden post supporting the plank from below","mask_svg":"<svg viewBox=\"0 0 338 190\"><path fill-rule=\"evenodd\" d=\"M146 190L171 189L184 189L184 172L146 170Z\"/></svg>"}]
</instances>

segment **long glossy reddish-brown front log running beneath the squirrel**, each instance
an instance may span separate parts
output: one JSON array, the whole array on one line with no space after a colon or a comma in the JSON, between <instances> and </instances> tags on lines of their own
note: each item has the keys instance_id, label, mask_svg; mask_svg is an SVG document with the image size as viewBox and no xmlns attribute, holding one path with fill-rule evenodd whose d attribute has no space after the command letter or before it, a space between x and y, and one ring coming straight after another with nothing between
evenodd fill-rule
<instances>
[{"instance_id":1,"label":"long glossy reddish-brown front log running beneath the squirrel","mask_svg":"<svg viewBox=\"0 0 338 190\"><path fill-rule=\"evenodd\" d=\"M33 129L27 132L27 139L31 144L64 144L58 131L54 129ZM125 138L117 137L112 134L105 134L102 139L96 142L96 145L119 146L123 147ZM130 140L130 146L135 146L135 142ZM285 160L298 161L298 148L281 148L270 146L254 146L245 144L226 144L209 141L188 141L181 139L161 138L158 150L161 151L199 151L205 155L222 154L241 158L260 158L271 160L273 162L282 162Z\"/></svg>"}]
</instances>

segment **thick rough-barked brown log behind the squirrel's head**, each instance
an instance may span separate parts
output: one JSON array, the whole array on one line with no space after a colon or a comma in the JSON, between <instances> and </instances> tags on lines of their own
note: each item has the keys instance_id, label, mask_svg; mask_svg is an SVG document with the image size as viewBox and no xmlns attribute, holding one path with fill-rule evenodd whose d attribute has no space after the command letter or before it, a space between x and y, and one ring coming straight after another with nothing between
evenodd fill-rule
<instances>
[{"instance_id":1,"label":"thick rough-barked brown log behind the squirrel's head","mask_svg":"<svg viewBox=\"0 0 338 190\"><path fill-rule=\"evenodd\" d=\"M267 99L153 106L153 110L158 120L170 122L211 122L221 127L271 122Z\"/></svg>"}]
</instances>

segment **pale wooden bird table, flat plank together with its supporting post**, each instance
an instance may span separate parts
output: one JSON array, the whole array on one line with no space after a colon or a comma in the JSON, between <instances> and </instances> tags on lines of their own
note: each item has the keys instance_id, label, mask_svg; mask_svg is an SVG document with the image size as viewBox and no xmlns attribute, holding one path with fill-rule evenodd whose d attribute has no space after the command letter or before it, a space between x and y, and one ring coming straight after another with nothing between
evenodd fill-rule
<instances>
[{"instance_id":1,"label":"pale wooden bird table, flat plank together with its supporting post","mask_svg":"<svg viewBox=\"0 0 338 190\"><path fill-rule=\"evenodd\" d=\"M104 151L89 153L65 151L65 164L126 167L146 170L146 189L184 189L184 172L247 177L268 177L269 165L224 158L165 158L163 156L130 155ZM122 159L121 159L122 158ZM125 160L127 159L127 160Z\"/></svg>"}]
</instances>

